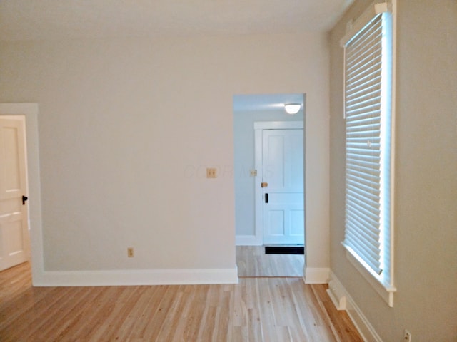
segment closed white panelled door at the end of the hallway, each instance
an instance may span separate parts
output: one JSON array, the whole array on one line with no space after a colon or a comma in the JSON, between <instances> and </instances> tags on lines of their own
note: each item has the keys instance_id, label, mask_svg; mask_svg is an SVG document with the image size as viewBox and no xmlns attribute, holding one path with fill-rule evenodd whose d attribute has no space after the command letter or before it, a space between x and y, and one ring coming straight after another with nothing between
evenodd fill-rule
<instances>
[{"instance_id":1,"label":"closed white panelled door at the end of the hallway","mask_svg":"<svg viewBox=\"0 0 457 342\"><path fill-rule=\"evenodd\" d=\"M303 129L262 131L263 244L303 244Z\"/></svg>"}]
</instances>

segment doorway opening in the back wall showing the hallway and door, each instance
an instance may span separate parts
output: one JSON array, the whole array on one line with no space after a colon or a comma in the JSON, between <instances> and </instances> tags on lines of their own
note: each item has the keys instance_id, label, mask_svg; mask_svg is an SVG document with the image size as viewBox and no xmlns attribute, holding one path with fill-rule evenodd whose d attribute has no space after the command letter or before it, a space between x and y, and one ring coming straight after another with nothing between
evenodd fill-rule
<instances>
[{"instance_id":1,"label":"doorway opening in the back wall showing the hallway and door","mask_svg":"<svg viewBox=\"0 0 457 342\"><path fill-rule=\"evenodd\" d=\"M305 243L304 118L304 94L233 96L238 276L303 276L303 254L283 247Z\"/></svg>"}]
</instances>

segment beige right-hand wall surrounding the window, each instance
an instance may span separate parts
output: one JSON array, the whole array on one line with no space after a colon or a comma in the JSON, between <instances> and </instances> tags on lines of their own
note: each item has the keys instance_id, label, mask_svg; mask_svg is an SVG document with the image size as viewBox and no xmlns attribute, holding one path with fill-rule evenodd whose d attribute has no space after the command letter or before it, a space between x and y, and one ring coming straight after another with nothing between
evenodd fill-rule
<instances>
[{"instance_id":1,"label":"beige right-hand wall surrounding the window","mask_svg":"<svg viewBox=\"0 0 457 342\"><path fill-rule=\"evenodd\" d=\"M387 304L346 260L343 49L331 32L331 269L383 341L457 340L457 2L398 0L395 285Z\"/></svg>"}]
</instances>

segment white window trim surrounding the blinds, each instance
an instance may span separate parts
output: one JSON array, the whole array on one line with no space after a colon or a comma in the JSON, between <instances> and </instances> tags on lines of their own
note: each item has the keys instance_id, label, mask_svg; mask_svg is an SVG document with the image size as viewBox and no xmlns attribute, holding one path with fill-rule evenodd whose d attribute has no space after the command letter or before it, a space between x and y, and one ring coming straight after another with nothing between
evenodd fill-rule
<instances>
[{"instance_id":1,"label":"white window trim surrounding the blinds","mask_svg":"<svg viewBox=\"0 0 457 342\"><path fill-rule=\"evenodd\" d=\"M368 281L369 284L373 287L373 289L376 290L376 292L383 298L384 301L388 304L388 306L393 307L393 294L396 292L396 287L393 285L394 284L394 244L393 244L393 238L394 238L394 170L395 170L395 157L394 157L394 151L395 151L395 100L396 100L396 92L395 92L395 80L396 80L396 0L391 0L388 2L384 2L381 4L376 4L373 3L371 6L366 9L366 11L361 14L361 16L356 19L356 21L351 21L348 23L347 27L347 32L343 38L341 38L340 45L343 48L346 48L346 44L351 41L351 39L356 36L356 34L361 31L366 24L368 24L376 15L383 13L383 12L390 12L391 13L391 151L390 151L390 217L388 218L390 220L390 265L389 265L389 276L388 276L388 281L383 281L378 274L376 274L375 271L371 270L368 266L364 265L363 259L358 257L356 254L354 254L351 249L348 249L346 245L344 244L344 241L341 242L343 244L343 247L346 249L346 258L350 263L361 273L364 279ZM343 53L344 55L344 66L343 66L343 71L344 71L344 76L343 80L344 83L346 83L346 51ZM344 117L346 120L346 85L343 86L344 89L344 94L343 94L343 101L344 101ZM346 124L345 124L346 125ZM345 167L346 170L346 167ZM346 186L345 186L346 188ZM346 201L346 199L345 199ZM345 210L346 211L346 210ZM346 229L345 229L346 230Z\"/></svg>"}]
</instances>

